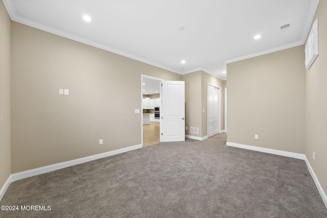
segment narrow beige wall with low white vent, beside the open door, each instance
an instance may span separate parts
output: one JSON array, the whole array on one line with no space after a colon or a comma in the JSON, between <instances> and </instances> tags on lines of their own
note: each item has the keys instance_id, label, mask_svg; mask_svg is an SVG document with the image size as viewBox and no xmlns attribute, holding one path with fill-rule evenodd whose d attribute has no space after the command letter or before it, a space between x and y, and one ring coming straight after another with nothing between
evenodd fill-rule
<instances>
[{"instance_id":1,"label":"narrow beige wall with low white vent, beside the open door","mask_svg":"<svg viewBox=\"0 0 327 218\"><path fill-rule=\"evenodd\" d=\"M185 130L186 135L202 138L201 118L201 71L182 75L185 81ZM199 128L199 134L191 133L191 127Z\"/></svg>"}]
</instances>

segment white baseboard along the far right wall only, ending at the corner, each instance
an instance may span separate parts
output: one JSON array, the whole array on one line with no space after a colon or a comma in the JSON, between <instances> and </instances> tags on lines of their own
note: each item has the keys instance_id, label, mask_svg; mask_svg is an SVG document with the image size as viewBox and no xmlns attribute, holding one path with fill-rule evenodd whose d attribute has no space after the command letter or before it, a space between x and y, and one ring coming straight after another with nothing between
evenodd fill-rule
<instances>
[{"instance_id":1,"label":"white baseboard along the far right wall only, ending at the corner","mask_svg":"<svg viewBox=\"0 0 327 218\"><path fill-rule=\"evenodd\" d=\"M256 146L251 146L251 145L242 145L242 144L232 143L232 142L227 142L226 145L231 146L231 147L252 150L252 151L260 151L260 152L269 153L269 154L281 155L281 156L285 156L285 157L293 157L293 158L301 159L301 160L304 160L306 158L306 155L304 155L304 154L275 150L275 149L270 149L270 148L262 148L262 147L256 147Z\"/></svg>"}]
</instances>

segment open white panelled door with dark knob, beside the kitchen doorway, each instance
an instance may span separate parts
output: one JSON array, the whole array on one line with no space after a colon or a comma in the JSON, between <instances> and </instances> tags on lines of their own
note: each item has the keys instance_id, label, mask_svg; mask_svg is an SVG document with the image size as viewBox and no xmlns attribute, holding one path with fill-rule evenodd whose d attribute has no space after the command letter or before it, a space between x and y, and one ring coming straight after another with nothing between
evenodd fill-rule
<instances>
[{"instance_id":1,"label":"open white panelled door with dark knob, beside the kitchen doorway","mask_svg":"<svg viewBox=\"0 0 327 218\"><path fill-rule=\"evenodd\" d=\"M185 141L185 83L162 81L161 142Z\"/></svg>"}]
</instances>

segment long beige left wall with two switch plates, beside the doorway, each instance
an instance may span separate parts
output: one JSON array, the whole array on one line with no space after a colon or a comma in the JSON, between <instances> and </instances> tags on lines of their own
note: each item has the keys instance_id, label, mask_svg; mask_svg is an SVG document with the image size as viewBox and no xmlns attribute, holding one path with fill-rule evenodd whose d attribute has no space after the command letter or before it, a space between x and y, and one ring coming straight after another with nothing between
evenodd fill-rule
<instances>
[{"instance_id":1,"label":"long beige left wall with two switch plates, beside the doorway","mask_svg":"<svg viewBox=\"0 0 327 218\"><path fill-rule=\"evenodd\" d=\"M11 29L12 173L141 144L141 74L181 80L27 25Z\"/></svg>"}]
</instances>

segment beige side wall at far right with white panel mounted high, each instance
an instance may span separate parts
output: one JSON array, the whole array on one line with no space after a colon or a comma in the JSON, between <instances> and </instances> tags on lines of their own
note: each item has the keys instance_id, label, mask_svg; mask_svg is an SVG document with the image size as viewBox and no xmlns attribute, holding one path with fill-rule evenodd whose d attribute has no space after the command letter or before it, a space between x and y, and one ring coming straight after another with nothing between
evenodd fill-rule
<instances>
[{"instance_id":1,"label":"beige side wall at far right with white panel mounted high","mask_svg":"<svg viewBox=\"0 0 327 218\"><path fill-rule=\"evenodd\" d=\"M320 1L319 56L306 71L306 146L305 154L327 193L327 1ZM315 152L315 159L313 159Z\"/></svg>"}]
</instances>

